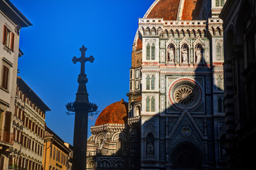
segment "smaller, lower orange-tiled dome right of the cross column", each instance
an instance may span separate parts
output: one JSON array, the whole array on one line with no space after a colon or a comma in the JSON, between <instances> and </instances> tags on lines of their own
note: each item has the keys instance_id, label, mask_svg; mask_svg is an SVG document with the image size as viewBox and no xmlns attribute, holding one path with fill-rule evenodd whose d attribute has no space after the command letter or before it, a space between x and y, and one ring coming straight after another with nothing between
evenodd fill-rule
<instances>
[{"instance_id":1,"label":"smaller, lower orange-tiled dome right of the cross column","mask_svg":"<svg viewBox=\"0 0 256 170\"><path fill-rule=\"evenodd\" d=\"M98 116L95 126L106 123L124 124L127 123L128 103L123 99L107 106Z\"/></svg>"}]
</instances>

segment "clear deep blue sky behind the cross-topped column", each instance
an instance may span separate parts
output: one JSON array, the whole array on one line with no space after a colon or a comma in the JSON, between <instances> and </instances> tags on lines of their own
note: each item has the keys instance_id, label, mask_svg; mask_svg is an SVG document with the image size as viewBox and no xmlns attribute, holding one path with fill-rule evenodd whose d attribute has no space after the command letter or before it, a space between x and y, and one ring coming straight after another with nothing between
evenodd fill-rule
<instances>
[{"instance_id":1,"label":"clear deep blue sky behind the cross-topped column","mask_svg":"<svg viewBox=\"0 0 256 170\"><path fill-rule=\"evenodd\" d=\"M73 144L74 115L67 115L65 104L75 101L78 90L79 48L95 62L85 64L89 100L105 107L128 101L129 68L138 18L154 0L11 0L33 26L21 29L18 60L20 76L51 109L46 124L65 142ZM97 115L89 117L90 126Z\"/></svg>"}]
</instances>

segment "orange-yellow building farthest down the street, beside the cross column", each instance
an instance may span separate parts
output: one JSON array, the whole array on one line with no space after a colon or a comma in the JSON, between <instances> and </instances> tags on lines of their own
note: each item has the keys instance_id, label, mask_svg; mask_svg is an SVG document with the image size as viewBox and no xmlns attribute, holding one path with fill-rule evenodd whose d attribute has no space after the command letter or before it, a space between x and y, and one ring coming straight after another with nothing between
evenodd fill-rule
<instances>
[{"instance_id":1,"label":"orange-yellow building farthest down the street, beside the cross column","mask_svg":"<svg viewBox=\"0 0 256 170\"><path fill-rule=\"evenodd\" d=\"M46 126L43 149L43 170L71 170L72 146Z\"/></svg>"}]
</instances>

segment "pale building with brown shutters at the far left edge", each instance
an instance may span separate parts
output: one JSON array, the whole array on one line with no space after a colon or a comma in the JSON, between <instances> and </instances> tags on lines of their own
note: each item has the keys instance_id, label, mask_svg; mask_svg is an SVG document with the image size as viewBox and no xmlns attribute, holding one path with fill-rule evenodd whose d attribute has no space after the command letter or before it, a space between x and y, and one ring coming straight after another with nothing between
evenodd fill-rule
<instances>
[{"instance_id":1,"label":"pale building with brown shutters at the far left edge","mask_svg":"<svg viewBox=\"0 0 256 170\"><path fill-rule=\"evenodd\" d=\"M9 162L14 134L11 122L14 118L16 79L21 28L32 26L31 22L11 4L0 0L0 169L6 169Z\"/></svg>"}]
</instances>

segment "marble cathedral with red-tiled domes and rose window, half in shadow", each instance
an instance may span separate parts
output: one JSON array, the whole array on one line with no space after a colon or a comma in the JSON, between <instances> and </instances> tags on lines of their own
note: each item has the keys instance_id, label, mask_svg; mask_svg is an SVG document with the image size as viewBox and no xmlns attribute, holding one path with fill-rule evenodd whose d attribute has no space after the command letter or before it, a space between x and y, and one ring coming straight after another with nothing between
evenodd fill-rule
<instances>
[{"instance_id":1,"label":"marble cathedral with red-tiled domes and rose window, half in shadow","mask_svg":"<svg viewBox=\"0 0 256 170\"><path fill-rule=\"evenodd\" d=\"M225 169L224 0L156 0L139 18L129 102L100 113L87 169Z\"/></svg>"}]
</instances>

